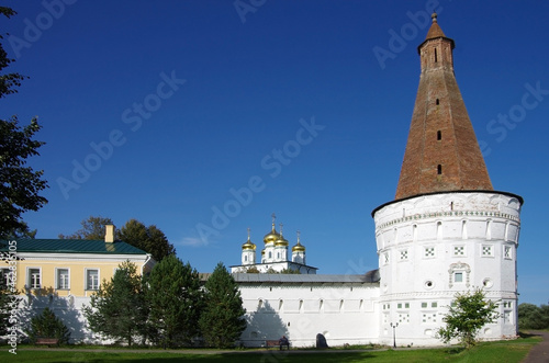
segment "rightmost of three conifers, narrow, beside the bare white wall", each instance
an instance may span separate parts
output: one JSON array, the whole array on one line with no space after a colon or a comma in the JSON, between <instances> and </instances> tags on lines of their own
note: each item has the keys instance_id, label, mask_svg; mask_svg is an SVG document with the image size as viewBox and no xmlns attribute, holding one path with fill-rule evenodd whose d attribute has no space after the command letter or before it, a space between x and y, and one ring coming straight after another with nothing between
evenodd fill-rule
<instances>
[{"instance_id":1,"label":"rightmost of three conifers, narrow, beside the bare white wall","mask_svg":"<svg viewBox=\"0 0 549 363\"><path fill-rule=\"evenodd\" d=\"M223 263L219 263L205 283L205 307L200 316L200 330L210 347L229 348L246 329L238 285Z\"/></svg>"}]
</instances>

